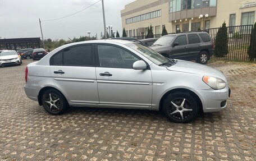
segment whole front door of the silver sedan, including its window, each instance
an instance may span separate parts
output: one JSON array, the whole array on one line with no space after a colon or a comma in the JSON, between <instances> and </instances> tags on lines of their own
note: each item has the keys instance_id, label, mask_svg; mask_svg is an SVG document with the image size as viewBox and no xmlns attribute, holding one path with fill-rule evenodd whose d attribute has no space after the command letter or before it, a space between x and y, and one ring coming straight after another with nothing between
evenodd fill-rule
<instances>
[{"instance_id":1,"label":"whole front door of the silver sedan, including its window","mask_svg":"<svg viewBox=\"0 0 256 161\"><path fill-rule=\"evenodd\" d=\"M140 58L116 45L99 44L95 50L98 53L96 78L99 103L149 109L152 101L151 71L132 68L132 64Z\"/></svg>"}]
</instances>

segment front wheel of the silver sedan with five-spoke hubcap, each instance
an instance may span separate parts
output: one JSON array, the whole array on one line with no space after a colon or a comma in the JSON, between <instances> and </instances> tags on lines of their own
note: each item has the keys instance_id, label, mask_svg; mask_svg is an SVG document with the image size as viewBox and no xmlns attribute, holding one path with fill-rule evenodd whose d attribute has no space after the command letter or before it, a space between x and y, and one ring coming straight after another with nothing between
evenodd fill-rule
<instances>
[{"instance_id":1,"label":"front wheel of the silver sedan with five-spoke hubcap","mask_svg":"<svg viewBox=\"0 0 256 161\"><path fill-rule=\"evenodd\" d=\"M183 106L182 102L184 102ZM189 93L176 92L164 99L163 112L172 122L188 123L196 118L199 107L196 99Z\"/></svg>"}]
</instances>

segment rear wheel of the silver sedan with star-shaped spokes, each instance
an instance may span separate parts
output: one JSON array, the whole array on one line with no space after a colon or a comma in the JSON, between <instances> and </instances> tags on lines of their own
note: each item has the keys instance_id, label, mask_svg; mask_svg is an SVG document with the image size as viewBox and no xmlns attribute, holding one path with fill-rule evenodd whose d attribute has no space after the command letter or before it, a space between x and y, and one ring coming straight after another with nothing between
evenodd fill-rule
<instances>
[{"instance_id":1,"label":"rear wheel of the silver sedan with star-shaped spokes","mask_svg":"<svg viewBox=\"0 0 256 161\"><path fill-rule=\"evenodd\" d=\"M54 115L64 113L68 107L65 97L59 91L54 89L45 90L41 101L45 111Z\"/></svg>"}]
</instances>

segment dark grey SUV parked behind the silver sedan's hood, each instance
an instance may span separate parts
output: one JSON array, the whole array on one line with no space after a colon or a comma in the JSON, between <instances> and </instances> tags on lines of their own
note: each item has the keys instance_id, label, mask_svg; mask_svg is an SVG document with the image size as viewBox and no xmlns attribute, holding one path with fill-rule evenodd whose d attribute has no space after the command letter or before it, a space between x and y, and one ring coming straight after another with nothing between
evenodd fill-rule
<instances>
[{"instance_id":1,"label":"dark grey SUV parked behind the silver sedan's hood","mask_svg":"<svg viewBox=\"0 0 256 161\"><path fill-rule=\"evenodd\" d=\"M164 35L150 48L165 57L206 64L214 54L211 37L205 32Z\"/></svg>"}]
</instances>

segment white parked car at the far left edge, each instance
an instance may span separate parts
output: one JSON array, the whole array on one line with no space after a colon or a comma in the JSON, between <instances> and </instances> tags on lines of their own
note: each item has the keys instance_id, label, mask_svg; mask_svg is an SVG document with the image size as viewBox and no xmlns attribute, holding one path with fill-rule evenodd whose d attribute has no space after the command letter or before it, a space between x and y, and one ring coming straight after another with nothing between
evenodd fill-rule
<instances>
[{"instance_id":1,"label":"white parked car at the far left edge","mask_svg":"<svg viewBox=\"0 0 256 161\"><path fill-rule=\"evenodd\" d=\"M8 65L21 65L21 57L15 50L0 51L0 67Z\"/></svg>"}]
</instances>

